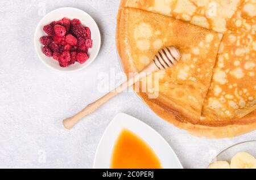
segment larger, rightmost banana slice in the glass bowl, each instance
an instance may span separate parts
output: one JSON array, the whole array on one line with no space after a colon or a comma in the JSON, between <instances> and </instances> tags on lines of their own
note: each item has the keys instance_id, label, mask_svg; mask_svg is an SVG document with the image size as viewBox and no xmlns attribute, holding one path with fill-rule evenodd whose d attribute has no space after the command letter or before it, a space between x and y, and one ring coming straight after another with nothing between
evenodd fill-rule
<instances>
[{"instance_id":1,"label":"larger, rightmost banana slice in the glass bowl","mask_svg":"<svg viewBox=\"0 0 256 180\"><path fill-rule=\"evenodd\" d=\"M256 169L256 159L246 152L238 152L231 160L232 169Z\"/></svg>"}]
</instances>

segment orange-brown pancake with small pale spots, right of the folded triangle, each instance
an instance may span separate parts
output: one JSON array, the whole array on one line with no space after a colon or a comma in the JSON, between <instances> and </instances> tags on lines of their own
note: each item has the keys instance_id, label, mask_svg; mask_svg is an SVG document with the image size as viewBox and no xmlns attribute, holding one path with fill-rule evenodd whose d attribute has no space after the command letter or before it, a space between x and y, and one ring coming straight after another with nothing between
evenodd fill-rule
<instances>
[{"instance_id":1,"label":"orange-brown pancake with small pale spots, right of the folded triangle","mask_svg":"<svg viewBox=\"0 0 256 180\"><path fill-rule=\"evenodd\" d=\"M254 12L246 11L248 5L243 3L228 24L201 123L241 122L256 108L256 3Z\"/></svg>"}]
</instances>

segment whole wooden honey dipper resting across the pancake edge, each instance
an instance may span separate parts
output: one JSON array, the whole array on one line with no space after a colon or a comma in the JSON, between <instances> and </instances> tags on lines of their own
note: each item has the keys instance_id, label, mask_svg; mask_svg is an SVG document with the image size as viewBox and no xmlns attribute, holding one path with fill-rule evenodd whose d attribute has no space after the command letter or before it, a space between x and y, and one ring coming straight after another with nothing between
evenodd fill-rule
<instances>
[{"instance_id":1,"label":"whole wooden honey dipper resting across the pancake edge","mask_svg":"<svg viewBox=\"0 0 256 180\"><path fill-rule=\"evenodd\" d=\"M137 83L139 80L144 78L144 76L158 71L158 70L167 70L168 68L176 65L176 63L180 60L180 53L174 46L169 46L166 48L161 49L156 55L153 61L144 68L143 71L139 72L139 74L135 75L134 77L127 80L127 82L119 85L113 91L109 92L105 96L101 97L97 101L94 101L92 104L89 104L81 112L77 113L71 118L65 119L63 121L63 125L68 130L71 130L73 126L76 125L82 118L86 115L89 115L100 108L105 102L109 101L111 98L116 96L119 92L122 92L127 87L130 87L134 83Z\"/></svg>"}]
</instances>

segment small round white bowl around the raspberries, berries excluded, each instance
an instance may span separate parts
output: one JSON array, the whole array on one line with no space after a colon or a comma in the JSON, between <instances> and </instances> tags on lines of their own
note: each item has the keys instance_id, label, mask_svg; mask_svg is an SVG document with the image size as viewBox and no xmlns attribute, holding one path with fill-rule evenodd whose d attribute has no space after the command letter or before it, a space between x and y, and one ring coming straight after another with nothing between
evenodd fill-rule
<instances>
[{"instance_id":1,"label":"small round white bowl around the raspberries, berries excluded","mask_svg":"<svg viewBox=\"0 0 256 180\"><path fill-rule=\"evenodd\" d=\"M81 20L82 25L89 27L90 31L92 32L93 48L88 50L89 59L82 65L76 62L74 65L68 67L60 67L57 61L47 57L42 53L43 46L42 44L40 44L39 38L42 36L46 36L46 33L43 31L44 25L47 25L55 20L60 20L65 17L69 19L76 18ZM88 67L90 63L92 63L94 59L97 57L101 46L101 34L96 22L89 14L77 8L63 7L49 12L46 16L44 16L42 20L40 20L38 27L36 27L34 44L36 53L38 54L38 57L42 60L44 65L54 70L73 72Z\"/></svg>"}]
</instances>

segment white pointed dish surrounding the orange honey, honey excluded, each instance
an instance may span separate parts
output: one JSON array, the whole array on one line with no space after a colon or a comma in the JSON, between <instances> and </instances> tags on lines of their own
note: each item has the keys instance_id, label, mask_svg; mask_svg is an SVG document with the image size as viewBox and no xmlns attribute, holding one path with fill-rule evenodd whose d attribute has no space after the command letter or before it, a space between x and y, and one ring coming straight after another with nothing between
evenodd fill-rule
<instances>
[{"instance_id":1,"label":"white pointed dish surrounding the orange honey, honey excluded","mask_svg":"<svg viewBox=\"0 0 256 180\"><path fill-rule=\"evenodd\" d=\"M148 145L150 145L159 157L164 169L183 168L170 145L160 134L158 134L158 132L142 121L123 113L117 114L106 128L106 131L98 144L93 168L110 168L115 142L124 128L134 132L134 134L141 137Z\"/></svg>"}]
</instances>

